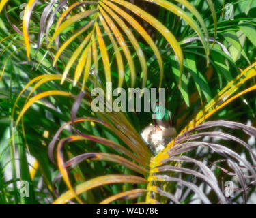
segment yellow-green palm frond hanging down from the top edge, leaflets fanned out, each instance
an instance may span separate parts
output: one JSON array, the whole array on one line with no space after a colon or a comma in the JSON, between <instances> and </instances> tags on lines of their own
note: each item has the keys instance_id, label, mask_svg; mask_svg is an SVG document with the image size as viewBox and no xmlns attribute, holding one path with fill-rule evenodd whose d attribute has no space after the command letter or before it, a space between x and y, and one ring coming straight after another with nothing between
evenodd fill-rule
<instances>
[{"instance_id":1,"label":"yellow-green palm frond hanging down from the top edge, leaflets fanned out","mask_svg":"<svg viewBox=\"0 0 256 218\"><path fill-rule=\"evenodd\" d=\"M29 43L29 33L28 33L28 28L29 28L29 19L31 17L31 12L33 10L33 7L35 6L35 3L37 1L29 1L26 10L25 10L25 19L23 20L23 35L24 35L24 39L25 39L25 46L27 48L27 55L30 59L30 43ZM151 1L149 1L151 2ZM181 16L181 18L183 18L184 20L186 20L186 22L188 22L188 25L190 25L190 27L192 27L197 35L199 35L199 38L201 40L201 42L203 43L203 47L205 48L205 52L206 55L208 57L209 55L209 43L208 43L208 31L205 27L205 23L203 22L203 19L201 18L201 15L199 14L199 12L195 9L195 7L193 7L193 5L191 5L190 3L188 3L188 1L178 1L179 3L182 3L186 9L188 9L194 16L195 18L197 18L197 20L199 21L201 27L203 28L203 31L205 32L205 35L203 35L202 31L201 31L201 27L199 27L199 25L197 25L197 22L195 20L193 20L193 18L190 18L190 16L188 16L188 14L186 14L186 12L184 10L182 10L181 7L178 7L177 5L170 3L169 1L164 1L164 0L157 0L154 1L154 3L156 3L157 5L159 5L160 7L165 8L166 10L169 10L170 12L172 12L173 14L176 14L177 16ZM63 8L63 5L65 5L66 1L62 1L61 3L59 3L59 5L57 5L57 8L54 10L54 12L52 12L51 14L51 10L53 9L53 6L56 4L55 0L52 0L44 9L44 11L42 12L42 17L40 20L40 33L38 35L38 48L40 46L40 44L42 43L42 39L43 39L43 35L44 32L46 31L46 41L48 41L48 33L50 30L51 25L53 24L53 20L54 17L56 16L57 10L61 10ZM214 12L214 8L213 5L211 3L211 1L208 1L210 8L212 10L212 12ZM88 6L85 10L82 9L81 7L84 6ZM179 68L180 68L180 78L182 76L182 72L183 72L183 55L182 55L182 50L175 38L175 36L171 33L171 31L169 31L169 29L167 29L164 25L162 25L161 22L159 22L156 18L154 18L153 16L151 16L149 13L145 12L144 10L142 10L140 7L133 5L132 3L129 3L127 1L119 1L119 0L115 0L115 1L106 1L106 0L102 0L99 2L96 1L81 1L81 2L76 2L73 3L72 5L70 5L70 7L68 7L67 10L65 10L61 16L59 17L59 19L57 20L56 23L56 27L55 27L55 33L53 34L53 36L51 37L50 42L48 43L48 48L54 48L52 45L53 41L55 40L56 42L56 46L58 48L59 46L59 36L61 34L64 34L64 31L66 31L67 27L71 27L74 23L79 22L79 20L88 20L91 22L94 22L93 24L91 22L87 23L88 26L82 27L82 29L80 31L77 31L76 33L72 34L72 36L66 40L66 42L63 43L63 45L61 46L60 50L57 50L57 54L55 55L55 61L54 61L54 65L55 63L57 63L57 61L59 60L59 57L61 55L61 53L66 50L67 46L69 44L71 44L74 39L76 37L78 37L79 35L87 32L89 30L89 27L92 27L92 31L89 32L89 35L94 35L94 33L96 33L97 37L96 40L98 41L99 44L99 48L100 48L100 54L102 56L102 62L104 65L104 73L106 74L106 82L110 82L111 81L111 76L109 74L110 72L110 68L111 68L111 64L109 61L105 61L106 60L106 46L104 46L103 44L103 40L102 38L99 36L100 35L104 35L104 33L100 30L104 29L105 32L108 32L107 35L110 37L110 33L114 33L115 35L115 39L113 38L113 36L111 37L111 44L113 45L113 50L115 52L115 55L117 55L117 65L118 65L118 71L119 71L119 82L118 82L118 87L121 87L123 84L123 67L122 67L122 59L121 59L121 54L118 51L117 52L117 43L118 42L120 48L118 48L118 50L122 50L124 52L124 55L126 56L126 61L128 61L128 69L130 70L130 76L131 76L131 86L134 87L135 84L135 80L136 80L136 72L135 72L135 68L134 68L134 63L133 63L133 58L132 55L130 54L130 51L128 50L128 46L126 45L127 42L124 41L124 39L122 38L122 33L119 32L119 30L117 30L117 26L116 24L121 27L122 32L124 32L127 37L128 40L131 42L132 47L134 48L135 54L137 54L137 57L139 59L139 62L141 63L141 72L142 72L142 87L145 87L146 85L146 81L147 81L147 60L145 55L143 54L143 51L141 49L141 47L139 46L139 42L136 39L136 37L134 36L134 34L132 33L132 31L130 31L130 28L125 24L125 22L119 18L119 16L121 16L122 18L129 20L130 26L134 28L135 31L137 31L139 33L139 35L141 35L146 42L149 44L150 48L152 48L154 55L156 55L156 59L158 61L158 65L160 67L160 86L162 83L162 79L163 79L163 64L162 64L162 58L160 56L160 52L156 46L156 44L154 44L154 41L152 40L152 38L150 37L150 35L147 34L147 32L145 31L145 29L139 25L139 22L137 22L134 18L132 18L132 16L130 16L127 12L125 12L124 10L122 10L122 8L119 7L119 5L125 7L126 9L130 10L131 12L133 12L134 14L137 14L137 16L141 17L143 20L145 20L146 22L148 22L150 25L152 25L154 28L157 29L157 31L159 31L167 40L167 42L169 42L169 44L171 45L171 48L173 48L175 55L177 55L177 60L179 62ZM77 14L73 14L72 12L74 10L79 10L79 8L81 8L82 12L79 12ZM71 15L72 13L72 15ZM107 13L107 14L106 14ZM117 16L117 13L119 16ZM109 14L109 15L108 15ZM110 17L111 16L111 17ZM104 18L104 19L103 19ZM112 18L115 19L115 23L113 22ZM47 19L48 19L48 24L47 24ZM214 16L214 22L216 21L215 16ZM106 22L106 23L103 23ZM47 24L47 27L45 28L45 25ZM109 28L107 29L106 24L109 25ZM66 34L66 33L65 33ZM89 37L89 44L91 44L92 42L92 37ZM116 41L115 41L116 40ZM84 44L83 42L81 43L81 45ZM85 83L87 81L88 78L88 69L89 71L91 70L91 65L89 65L89 62L85 61L85 57L87 55L85 55L86 52L84 52L84 49L89 50L88 47L84 47L84 46L80 46L81 49L76 50L74 52L75 55L72 55L71 59L72 61L70 61L70 64L68 64L66 66L66 69L63 72L63 79L62 82L66 79L66 76L68 75L68 72L70 71L70 69L72 68L71 65L74 65L74 59L76 59L79 55L81 55L81 61L79 61L79 67L76 67L76 76L75 76L75 80L74 80L74 85L76 85L77 80L79 80L81 75L81 72L83 71L83 67L85 67L85 65L87 64L87 70L86 70L86 76L83 76L83 80L85 80L83 83ZM95 48L95 46L94 46ZM96 54L96 50L94 49L94 55ZM94 66L96 67L98 65L98 59L94 58ZM109 66L108 66L109 65ZM126 70L126 69L124 69ZM180 80L181 82L181 80Z\"/></svg>"}]
</instances>

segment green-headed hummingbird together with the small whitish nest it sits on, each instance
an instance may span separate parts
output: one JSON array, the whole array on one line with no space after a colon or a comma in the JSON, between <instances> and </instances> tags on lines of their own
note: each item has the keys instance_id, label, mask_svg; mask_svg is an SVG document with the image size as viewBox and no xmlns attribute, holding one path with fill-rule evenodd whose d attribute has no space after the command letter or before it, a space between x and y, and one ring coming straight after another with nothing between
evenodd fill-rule
<instances>
[{"instance_id":1,"label":"green-headed hummingbird together with the small whitish nest it sits on","mask_svg":"<svg viewBox=\"0 0 256 218\"><path fill-rule=\"evenodd\" d=\"M161 106L157 106L158 109ZM162 115L161 112L164 111ZM152 154L157 155L177 135L173 127L171 112L164 108L154 113L156 119L141 132L141 137L149 147Z\"/></svg>"}]
</instances>

